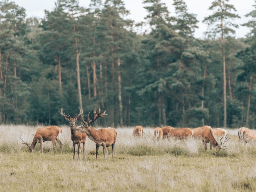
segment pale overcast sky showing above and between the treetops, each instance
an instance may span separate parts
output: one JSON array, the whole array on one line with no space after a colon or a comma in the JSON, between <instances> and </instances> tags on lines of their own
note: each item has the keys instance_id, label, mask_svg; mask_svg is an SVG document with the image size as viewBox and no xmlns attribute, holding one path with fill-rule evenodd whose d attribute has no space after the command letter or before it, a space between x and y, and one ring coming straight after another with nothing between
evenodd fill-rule
<instances>
[{"instance_id":1,"label":"pale overcast sky showing above and between the treetops","mask_svg":"<svg viewBox=\"0 0 256 192\"><path fill-rule=\"evenodd\" d=\"M55 0L10 0L14 1L15 4L18 4L20 7L26 9L27 17L44 17L44 10L52 11L55 6ZM198 29L195 31L196 38L204 38L203 32L206 31L207 27L202 23L204 17L207 17L212 14L212 11L209 11L208 8L211 5L213 0L184 0L188 6L188 12L197 14ZM135 22L140 22L144 20L144 17L147 15L147 12L143 8L145 4L142 4L143 0L124 0L126 9L130 11L130 15L127 17L129 19L135 20ZM168 7L171 15L175 15L173 0L162 0L163 3ZM88 7L90 0L80 0L80 6ZM255 8L252 5L255 5L254 0L229 0L229 4L233 4L237 10L241 19L237 19L233 22L237 24L243 24L251 18L244 17L245 14L251 12ZM250 31L247 27L239 26L239 29L236 29L236 38L245 37L245 35Z\"/></svg>"}]
</instances>

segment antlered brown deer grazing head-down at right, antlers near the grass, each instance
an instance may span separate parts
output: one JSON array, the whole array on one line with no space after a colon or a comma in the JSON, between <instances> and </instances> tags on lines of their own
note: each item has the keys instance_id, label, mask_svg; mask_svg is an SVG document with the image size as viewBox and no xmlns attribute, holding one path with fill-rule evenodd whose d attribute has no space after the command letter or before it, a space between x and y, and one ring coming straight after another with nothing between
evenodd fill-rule
<instances>
[{"instance_id":1,"label":"antlered brown deer grazing head-down at right, antlers near the grass","mask_svg":"<svg viewBox=\"0 0 256 192\"><path fill-rule=\"evenodd\" d=\"M230 139L230 138L226 137L227 135L225 135L226 139L222 142L221 140L224 138L224 136L221 137L220 144L218 144L218 142L213 137L212 128L207 125L203 126L202 131L201 131L201 136L203 138L203 144L205 146L205 150L207 149L207 146L206 146L207 143L210 143L211 149L212 149L212 146L213 146L213 148L226 149L225 147L227 147L227 146L224 146L224 143Z\"/></svg>"}]
</instances>

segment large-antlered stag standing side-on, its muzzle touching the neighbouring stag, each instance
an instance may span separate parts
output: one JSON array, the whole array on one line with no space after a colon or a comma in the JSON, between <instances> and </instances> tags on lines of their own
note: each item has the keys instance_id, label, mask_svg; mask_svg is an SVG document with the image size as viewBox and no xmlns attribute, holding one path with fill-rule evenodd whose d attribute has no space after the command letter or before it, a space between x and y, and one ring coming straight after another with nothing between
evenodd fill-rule
<instances>
[{"instance_id":1,"label":"large-antlered stag standing side-on, its muzzle touching the neighbouring stag","mask_svg":"<svg viewBox=\"0 0 256 192\"><path fill-rule=\"evenodd\" d=\"M97 113L97 109L95 109L93 111L92 120L90 120L90 118L89 118L90 113L88 114L87 122L85 122L83 120L83 117L81 117L81 122L84 124L81 127L77 127L76 131L86 133L87 136L89 137L89 139L96 143L96 160L98 157L99 146L103 146L103 153L104 153L104 158L106 161L106 150L108 149L108 147L110 145L112 146L112 159L113 159L114 145L116 143L116 135L117 135L116 130L111 127L108 127L106 129L100 128L98 130L95 130L90 125L98 117L105 117L107 115L107 114L105 114L105 112L106 111L104 111L104 113L102 113L102 110L100 110L100 108L99 108L99 113Z\"/></svg>"}]
</instances>

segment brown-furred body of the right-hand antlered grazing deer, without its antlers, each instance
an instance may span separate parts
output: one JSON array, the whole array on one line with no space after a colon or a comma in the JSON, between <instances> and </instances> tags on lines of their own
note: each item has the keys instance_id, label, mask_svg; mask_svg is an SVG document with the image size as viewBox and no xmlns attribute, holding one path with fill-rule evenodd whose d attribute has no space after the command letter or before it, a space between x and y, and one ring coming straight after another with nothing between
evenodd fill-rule
<instances>
[{"instance_id":1,"label":"brown-furred body of the right-hand antlered grazing deer, without its antlers","mask_svg":"<svg viewBox=\"0 0 256 192\"><path fill-rule=\"evenodd\" d=\"M212 128L210 126L207 126L207 125L203 126L201 131L201 136L203 138L203 144L205 146L205 150L207 149L207 146L206 146L207 143L210 143L210 145L213 146L213 148L220 149L220 145L213 137Z\"/></svg>"}]
</instances>

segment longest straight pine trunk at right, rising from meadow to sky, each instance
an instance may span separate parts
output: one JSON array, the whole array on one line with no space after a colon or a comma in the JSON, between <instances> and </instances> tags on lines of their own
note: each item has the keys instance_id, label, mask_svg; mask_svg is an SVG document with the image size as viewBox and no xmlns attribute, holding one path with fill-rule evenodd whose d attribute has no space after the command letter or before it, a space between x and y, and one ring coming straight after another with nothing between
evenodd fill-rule
<instances>
[{"instance_id":1,"label":"longest straight pine trunk at right, rising from meadow to sky","mask_svg":"<svg viewBox=\"0 0 256 192\"><path fill-rule=\"evenodd\" d=\"M225 41L223 35L223 20L221 18L221 36L222 36L222 60L223 60L223 110L224 110L224 120L223 120L223 127L227 127L227 82L226 82L226 63L225 63Z\"/></svg>"}]
</instances>

